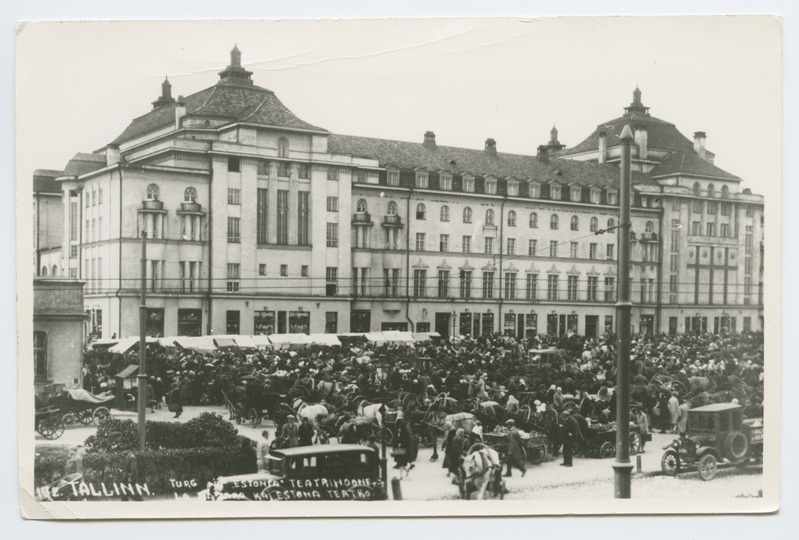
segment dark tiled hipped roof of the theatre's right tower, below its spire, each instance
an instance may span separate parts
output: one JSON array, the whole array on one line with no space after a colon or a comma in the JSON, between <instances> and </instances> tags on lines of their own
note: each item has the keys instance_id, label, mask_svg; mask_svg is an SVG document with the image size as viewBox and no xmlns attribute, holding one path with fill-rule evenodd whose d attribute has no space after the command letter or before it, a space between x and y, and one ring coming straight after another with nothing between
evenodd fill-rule
<instances>
[{"instance_id":1,"label":"dark tiled hipped roof of the theatre's right tower, below its spire","mask_svg":"<svg viewBox=\"0 0 799 540\"><path fill-rule=\"evenodd\" d=\"M605 131L607 134L608 147L617 146L620 143L619 135L626 124L631 127L646 127L647 146L662 150L685 150L693 148L693 141L679 132L674 126L664 120L641 113L628 113L619 118L599 124L594 132L580 144L568 148L558 155L568 156L581 152L590 152L599 147L599 132Z\"/></svg>"}]
</instances>

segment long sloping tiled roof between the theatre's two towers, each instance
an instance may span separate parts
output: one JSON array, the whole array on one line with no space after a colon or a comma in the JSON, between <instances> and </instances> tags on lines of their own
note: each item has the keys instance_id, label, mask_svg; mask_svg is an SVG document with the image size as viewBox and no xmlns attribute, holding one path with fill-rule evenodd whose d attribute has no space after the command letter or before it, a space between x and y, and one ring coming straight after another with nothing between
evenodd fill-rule
<instances>
[{"instance_id":1,"label":"long sloping tiled roof between the theatre's two towers","mask_svg":"<svg viewBox=\"0 0 799 540\"><path fill-rule=\"evenodd\" d=\"M550 158L543 162L536 156L497 153L483 150L437 146L387 139L330 135L328 151L334 154L375 159L381 167L398 169L424 168L428 171L448 171L452 174L513 177L537 182L557 181L582 186L618 188L619 169L615 165ZM654 183L640 173L634 173L635 183Z\"/></svg>"}]
</instances>

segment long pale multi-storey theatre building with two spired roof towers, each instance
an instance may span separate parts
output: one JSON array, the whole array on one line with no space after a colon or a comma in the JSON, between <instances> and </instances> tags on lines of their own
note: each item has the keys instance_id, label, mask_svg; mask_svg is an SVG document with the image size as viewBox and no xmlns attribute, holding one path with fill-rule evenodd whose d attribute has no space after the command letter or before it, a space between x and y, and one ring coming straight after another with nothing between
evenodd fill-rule
<instances>
[{"instance_id":1,"label":"long pale multi-storey theatre building with two spired roof towers","mask_svg":"<svg viewBox=\"0 0 799 540\"><path fill-rule=\"evenodd\" d=\"M235 48L214 86L174 98L164 81L102 151L37 171L63 212L37 270L86 282L103 337L138 333L142 231L151 335L597 335L615 324L626 124L634 332L761 329L763 198L638 89L573 148L553 128L509 154L330 133L256 86Z\"/></svg>"}]
</instances>

